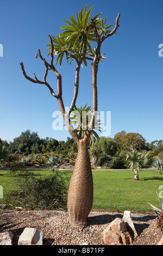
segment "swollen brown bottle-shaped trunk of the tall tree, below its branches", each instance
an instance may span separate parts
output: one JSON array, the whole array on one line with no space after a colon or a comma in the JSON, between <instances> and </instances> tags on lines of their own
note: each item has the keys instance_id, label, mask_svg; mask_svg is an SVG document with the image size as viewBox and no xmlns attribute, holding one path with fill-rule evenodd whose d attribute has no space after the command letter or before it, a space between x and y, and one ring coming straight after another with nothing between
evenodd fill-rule
<instances>
[{"instance_id":1,"label":"swollen brown bottle-shaped trunk of the tall tree, below its branches","mask_svg":"<svg viewBox=\"0 0 163 256\"><path fill-rule=\"evenodd\" d=\"M87 142L78 142L78 155L70 181L67 199L71 225L87 225L93 202L93 179Z\"/></svg>"}]
</instances>

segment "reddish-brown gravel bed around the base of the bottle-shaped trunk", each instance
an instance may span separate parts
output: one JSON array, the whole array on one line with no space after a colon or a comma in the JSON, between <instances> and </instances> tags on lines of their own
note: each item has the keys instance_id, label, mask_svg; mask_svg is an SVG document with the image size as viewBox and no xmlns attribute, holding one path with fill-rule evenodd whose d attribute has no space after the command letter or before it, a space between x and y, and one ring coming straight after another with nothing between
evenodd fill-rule
<instances>
[{"instance_id":1,"label":"reddish-brown gravel bed around the base of the bottle-shaped trunk","mask_svg":"<svg viewBox=\"0 0 163 256\"><path fill-rule=\"evenodd\" d=\"M14 234L13 245L26 227L43 231L43 245L104 245L102 231L115 218L123 218L123 212L92 210L87 227L72 227L66 211L60 210L0 210L0 230ZM162 232L156 227L156 215L131 213L138 236L132 245L157 245Z\"/></svg>"}]
</instances>

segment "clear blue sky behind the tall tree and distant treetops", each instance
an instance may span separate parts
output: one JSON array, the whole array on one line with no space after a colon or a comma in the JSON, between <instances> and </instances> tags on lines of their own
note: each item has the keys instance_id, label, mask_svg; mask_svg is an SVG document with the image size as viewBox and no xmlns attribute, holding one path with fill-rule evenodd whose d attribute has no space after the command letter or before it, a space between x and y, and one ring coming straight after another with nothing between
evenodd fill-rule
<instances>
[{"instance_id":1,"label":"clear blue sky behind the tall tree and distant treetops","mask_svg":"<svg viewBox=\"0 0 163 256\"><path fill-rule=\"evenodd\" d=\"M27 129L41 138L67 139L67 131L54 131L52 114L58 111L57 100L42 85L23 77L20 62L29 76L42 80L45 67L35 54L40 48L47 58L48 34L59 32L64 19L76 16L82 5L92 15L102 12L109 24L121 13L117 35L102 46L107 59L98 70L98 111L111 111L111 134L138 132L147 142L163 140L162 92L163 43L162 0L54 1L0 0L0 138L12 141ZM49 57L47 58L49 60ZM70 106L74 85L74 65L57 65L62 75L63 99ZM48 82L56 92L56 77ZM87 91L86 95L85 92ZM91 69L81 70L77 106L92 104Z\"/></svg>"}]
</instances>

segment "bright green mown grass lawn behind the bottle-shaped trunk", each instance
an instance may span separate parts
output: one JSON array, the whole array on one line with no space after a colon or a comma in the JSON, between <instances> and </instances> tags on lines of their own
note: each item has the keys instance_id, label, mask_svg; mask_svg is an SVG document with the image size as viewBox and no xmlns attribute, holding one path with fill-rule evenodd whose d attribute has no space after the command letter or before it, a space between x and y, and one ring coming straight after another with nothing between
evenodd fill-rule
<instances>
[{"instance_id":1,"label":"bright green mown grass lawn behind the bottle-shaped trunk","mask_svg":"<svg viewBox=\"0 0 163 256\"><path fill-rule=\"evenodd\" d=\"M35 175L49 175L51 170L33 170ZM68 170L68 175L72 171ZM129 210L136 212L152 212L149 203L160 208L156 191L163 185L163 175L155 170L141 170L140 180L134 181L131 170L92 170L94 198L92 209ZM0 170L0 185L3 194L16 188L13 176L7 170ZM68 184L67 184L68 190ZM0 199L0 204L5 203Z\"/></svg>"}]
</instances>

